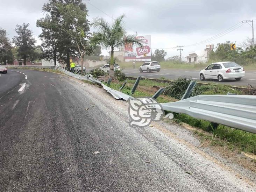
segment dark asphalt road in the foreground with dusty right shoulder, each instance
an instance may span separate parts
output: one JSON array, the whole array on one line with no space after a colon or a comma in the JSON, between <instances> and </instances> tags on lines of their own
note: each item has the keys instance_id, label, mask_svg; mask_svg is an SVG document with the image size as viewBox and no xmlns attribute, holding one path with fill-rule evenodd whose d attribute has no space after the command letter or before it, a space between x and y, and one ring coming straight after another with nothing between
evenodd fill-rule
<instances>
[{"instance_id":1,"label":"dark asphalt road in the foreground with dusty right shoulder","mask_svg":"<svg viewBox=\"0 0 256 192\"><path fill-rule=\"evenodd\" d=\"M170 125L129 127L127 102L97 86L9 70L0 90L0 191L255 191Z\"/></svg>"}]
</instances>

